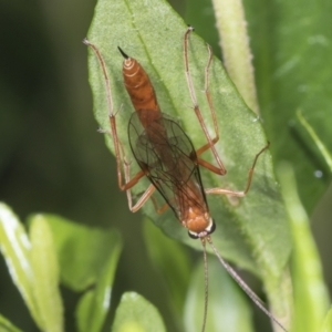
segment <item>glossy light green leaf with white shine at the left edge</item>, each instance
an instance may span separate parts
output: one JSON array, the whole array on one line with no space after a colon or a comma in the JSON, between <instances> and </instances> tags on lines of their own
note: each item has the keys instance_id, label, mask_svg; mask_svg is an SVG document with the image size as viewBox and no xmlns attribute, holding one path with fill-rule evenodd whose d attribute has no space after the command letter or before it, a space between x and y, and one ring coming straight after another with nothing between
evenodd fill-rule
<instances>
[{"instance_id":1,"label":"glossy light green leaf with white shine at the left edge","mask_svg":"<svg viewBox=\"0 0 332 332\"><path fill-rule=\"evenodd\" d=\"M43 326L34 302L34 271L31 266L31 243L24 227L4 204L0 204L0 243L10 276L39 326Z\"/></svg>"}]
</instances>

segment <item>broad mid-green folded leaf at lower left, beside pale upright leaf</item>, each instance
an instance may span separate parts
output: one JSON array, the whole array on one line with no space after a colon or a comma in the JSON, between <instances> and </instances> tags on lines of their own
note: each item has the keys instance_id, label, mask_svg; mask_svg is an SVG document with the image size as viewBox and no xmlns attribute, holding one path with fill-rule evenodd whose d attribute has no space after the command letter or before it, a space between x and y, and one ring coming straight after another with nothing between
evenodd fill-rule
<instances>
[{"instance_id":1,"label":"broad mid-green folded leaf at lower left, beside pale upright leaf","mask_svg":"<svg viewBox=\"0 0 332 332\"><path fill-rule=\"evenodd\" d=\"M101 331L110 310L112 286L122 242L112 229L85 227L54 215L44 215L56 247L62 282L86 291L79 302L79 331Z\"/></svg>"}]
</instances>

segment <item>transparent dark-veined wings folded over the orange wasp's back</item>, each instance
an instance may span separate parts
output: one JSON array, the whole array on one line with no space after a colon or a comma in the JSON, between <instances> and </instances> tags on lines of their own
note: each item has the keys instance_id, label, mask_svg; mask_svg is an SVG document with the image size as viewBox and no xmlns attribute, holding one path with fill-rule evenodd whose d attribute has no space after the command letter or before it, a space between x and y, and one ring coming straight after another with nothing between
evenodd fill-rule
<instances>
[{"instance_id":1,"label":"transparent dark-veined wings folded over the orange wasp's back","mask_svg":"<svg viewBox=\"0 0 332 332\"><path fill-rule=\"evenodd\" d=\"M138 165L178 219L185 205L199 206L201 199L206 205L195 148L175 121L159 114L144 127L142 115L134 113L128 137Z\"/></svg>"}]
</instances>

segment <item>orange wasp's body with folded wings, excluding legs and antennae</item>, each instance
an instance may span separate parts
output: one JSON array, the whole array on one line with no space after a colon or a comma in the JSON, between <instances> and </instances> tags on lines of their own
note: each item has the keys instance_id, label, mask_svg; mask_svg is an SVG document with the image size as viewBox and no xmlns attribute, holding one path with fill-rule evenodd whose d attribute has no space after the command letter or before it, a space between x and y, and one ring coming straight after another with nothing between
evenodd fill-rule
<instances>
[{"instance_id":1,"label":"orange wasp's body with folded wings, excluding legs and antennae","mask_svg":"<svg viewBox=\"0 0 332 332\"><path fill-rule=\"evenodd\" d=\"M121 52L125 58L125 86L136 111L128 125L135 159L190 234L210 232L214 224L191 141L160 112L153 85L138 62Z\"/></svg>"}]
</instances>

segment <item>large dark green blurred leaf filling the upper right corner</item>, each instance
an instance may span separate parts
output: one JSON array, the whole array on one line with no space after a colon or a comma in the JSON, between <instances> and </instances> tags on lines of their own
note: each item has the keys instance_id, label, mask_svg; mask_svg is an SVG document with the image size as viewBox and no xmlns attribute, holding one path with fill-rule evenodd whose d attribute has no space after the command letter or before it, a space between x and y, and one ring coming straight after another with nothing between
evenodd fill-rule
<instances>
[{"instance_id":1,"label":"large dark green blurred leaf filling the upper right corner","mask_svg":"<svg viewBox=\"0 0 332 332\"><path fill-rule=\"evenodd\" d=\"M320 139L332 151L331 1L243 1L262 116L276 163L289 160L299 195L312 211L331 175L294 126L301 110ZM323 177L315 177L321 170Z\"/></svg>"}]
</instances>

